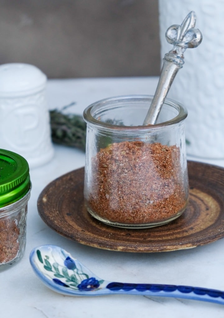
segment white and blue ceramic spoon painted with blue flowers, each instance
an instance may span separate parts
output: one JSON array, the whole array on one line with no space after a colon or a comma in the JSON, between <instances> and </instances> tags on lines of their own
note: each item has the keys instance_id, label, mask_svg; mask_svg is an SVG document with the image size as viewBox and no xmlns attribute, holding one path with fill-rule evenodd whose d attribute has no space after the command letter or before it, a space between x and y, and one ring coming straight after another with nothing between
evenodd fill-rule
<instances>
[{"instance_id":1,"label":"white and blue ceramic spoon painted with blue flowers","mask_svg":"<svg viewBox=\"0 0 224 318\"><path fill-rule=\"evenodd\" d=\"M71 296L132 294L187 298L224 304L224 292L214 289L102 280L64 249L54 245L34 248L30 253L30 262L43 283L60 294Z\"/></svg>"}]
</instances>

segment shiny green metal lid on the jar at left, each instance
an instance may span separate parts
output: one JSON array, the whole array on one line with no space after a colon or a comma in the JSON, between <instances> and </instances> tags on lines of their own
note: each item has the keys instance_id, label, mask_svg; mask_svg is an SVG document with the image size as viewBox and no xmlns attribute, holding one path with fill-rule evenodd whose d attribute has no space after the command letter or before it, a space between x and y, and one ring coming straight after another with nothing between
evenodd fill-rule
<instances>
[{"instance_id":1,"label":"shiny green metal lid on the jar at left","mask_svg":"<svg viewBox=\"0 0 224 318\"><path fill-rule=\"evenodd\" d=\"M24 197L29 188L26 159L15 152L0 149L0 208Z\"/></svg>"}]
</instances>

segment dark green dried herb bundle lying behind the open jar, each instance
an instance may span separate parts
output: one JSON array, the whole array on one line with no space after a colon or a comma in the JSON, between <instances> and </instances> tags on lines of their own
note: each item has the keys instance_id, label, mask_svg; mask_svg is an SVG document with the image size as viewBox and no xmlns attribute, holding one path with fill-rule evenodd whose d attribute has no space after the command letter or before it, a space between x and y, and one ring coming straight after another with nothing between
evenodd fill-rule
<instances>
[{"instance_id":1,"label":"dark green dried herb bundle lying behind the open jar","mask_svg":"<svg viewBox=\"0 0 224 318\"><path fill-rule=\"evenodd\" d=\"M85 121L81 115L63 114L64 109L72 105L74 103L63 107L61 111L50 110L52 142L85 151Z\"/></svg>"}]
</instances>

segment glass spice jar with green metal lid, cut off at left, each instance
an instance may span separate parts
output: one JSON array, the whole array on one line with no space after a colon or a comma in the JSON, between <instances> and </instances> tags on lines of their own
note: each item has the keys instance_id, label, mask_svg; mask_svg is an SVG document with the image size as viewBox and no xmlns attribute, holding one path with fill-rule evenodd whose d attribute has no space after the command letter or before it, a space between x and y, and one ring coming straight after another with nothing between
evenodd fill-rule
<instances>
[{"instance_id":1,"label":"glass spice jar with green metal lid, cut off at left","mask_svg":"<svg viewBox=\"0 0 224 318\"><path fill-rule=\"evenodd\" d=\"M0 271L16 264L24 255L30 191L27 161L0 149Z\"/></svg>"}]
</instances>

